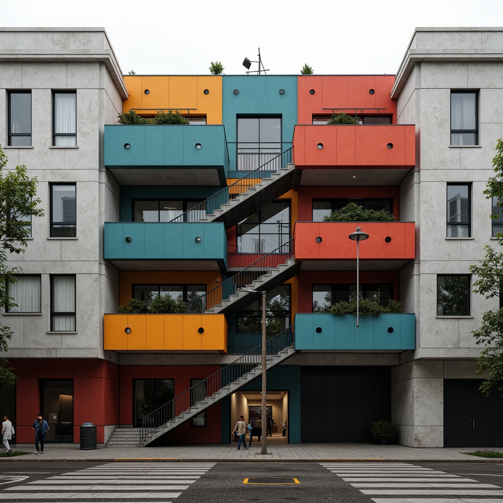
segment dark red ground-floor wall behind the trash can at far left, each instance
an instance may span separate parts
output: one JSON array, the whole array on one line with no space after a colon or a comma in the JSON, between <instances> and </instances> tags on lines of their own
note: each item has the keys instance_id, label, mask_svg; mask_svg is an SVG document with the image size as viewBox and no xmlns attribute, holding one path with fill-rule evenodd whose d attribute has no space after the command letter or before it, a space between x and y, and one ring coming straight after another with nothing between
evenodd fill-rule
<instances>
[{"instance_id":1,"label":"dark red ground-floor wall behind the trash can at far left","mask_svg":"<svg viewBox=\"0 0 503 503\"><path fill-rule=\"evenodd\" d=\"M16 441L34 442L32 424L40 411L41 379L73 379L73 442L80 442L80 425L97 426L98 444L105 426L119 424L119 368L104 360L14 360Z\"/></svg>"}]
</instances>

